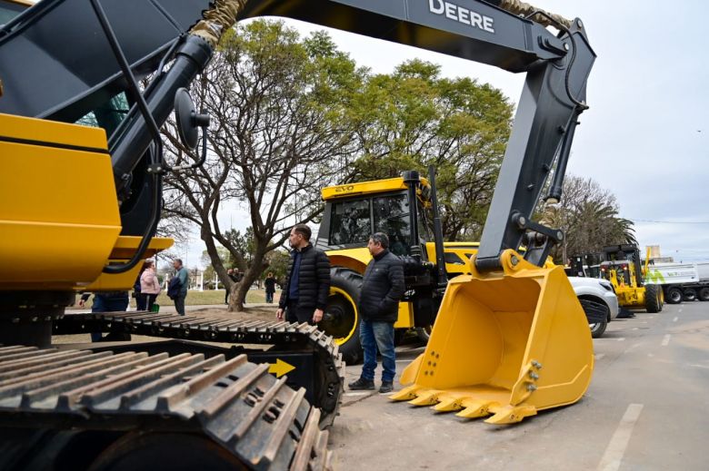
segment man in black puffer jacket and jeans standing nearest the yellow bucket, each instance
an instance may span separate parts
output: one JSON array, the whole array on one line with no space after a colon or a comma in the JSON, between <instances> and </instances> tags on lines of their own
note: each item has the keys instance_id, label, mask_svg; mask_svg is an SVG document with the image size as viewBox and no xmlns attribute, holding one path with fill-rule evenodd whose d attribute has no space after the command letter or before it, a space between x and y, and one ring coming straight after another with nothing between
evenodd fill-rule
<instances>
[{"instance_id":1,"label":"man in black puffer jacket and jeans standing nearest the yellow bucket","mask_svg":"<svg viewBox=\"0 0 709 471\"><path fill-rule=\"evenodd\" d=\"M367 265L359 295L359 339L364 349L364 365L359 379L350 389L374 389L376 350L382 354L382 386L380 393L394 389L396 363L394 357L394 322L399 314L399 300L404 296L404 263L388 250L386 234L376 232L369 238L367 249L373 260Z\"/></svg>"}]
</instances>

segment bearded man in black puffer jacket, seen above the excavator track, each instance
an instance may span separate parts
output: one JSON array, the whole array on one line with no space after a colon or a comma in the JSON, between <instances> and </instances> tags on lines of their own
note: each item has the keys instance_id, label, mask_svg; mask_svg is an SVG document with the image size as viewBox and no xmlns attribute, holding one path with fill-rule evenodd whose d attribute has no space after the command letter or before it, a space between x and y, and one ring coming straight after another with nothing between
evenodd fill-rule
<instances>
[{"instance_id":1,"label":"bearded man in black puffer jacket, seen above the excavator track","mask_svg":"<svg viewBox=\"0 0 709 471\"><path fill-rule=\"evenodd\" d=\"M288 322L316 324L323 319L330 293L330 260L310 243L310 228L298 224L288 236L291 261L275 317Z\"/></svg>"}]
</instances>

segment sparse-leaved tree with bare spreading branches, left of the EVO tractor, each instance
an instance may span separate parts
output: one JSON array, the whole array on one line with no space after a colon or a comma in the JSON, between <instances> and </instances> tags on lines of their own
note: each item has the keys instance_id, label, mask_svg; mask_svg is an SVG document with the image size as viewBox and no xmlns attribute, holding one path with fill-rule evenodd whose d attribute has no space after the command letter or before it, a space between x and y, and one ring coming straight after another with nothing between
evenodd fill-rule
<instances>
[{"instance_id":1,"label":"sparse-leaved tree with bare spreading branches, left of the EVO tractor","mask_svg":"<svg viewBox=\"0 0 709 471\"><path fill-rule=\"evenodd\" d=\"M205 164L165 180L165 212L200 228L212 266L233 289L230 310L242 310L245 294L265 269L268 252L281 247L290 228L315 221L320 189L335 182L354 159L353 132L345 118L358 71L325 34L301 40L282 22L241 25L194 90L212 116ZM194 162L165 128L177 162ZM246 207L253 232L251 262L220 227L226 203ZM245 268L242 282L227 277L218 245Z\"/></svg>"}]
</instances>

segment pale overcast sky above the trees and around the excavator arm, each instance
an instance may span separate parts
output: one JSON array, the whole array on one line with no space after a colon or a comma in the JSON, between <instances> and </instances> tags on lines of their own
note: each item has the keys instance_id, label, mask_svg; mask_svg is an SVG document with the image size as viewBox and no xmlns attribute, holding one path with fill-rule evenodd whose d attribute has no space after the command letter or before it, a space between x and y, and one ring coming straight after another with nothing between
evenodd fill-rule
<instances>
[{"instance_id":1,"label":"pale overcast sky above the trees and around the excavator arm","mask_svg":"<svg viewBox=\"0 0 709 471\"><path fill-rule=\"evenodd\" d=\"M424 2L425 0L421 0ZM458 5L470 4L455 0ZM597 59L588 81L568 172L613 191L620 215L633 220L641 247L660 245L675 261L709 260L709 36L705 3L536 0L584 21ZM322 26L286 20L302 34ZM518 101L524 74L509 74L443 54L328 29L339 48L374 73L419 58L445 76L474 77ZM224 214L241 227L242 215ZM195 265L198 238L175 250ZM194 261L193 261L194 260Z\"/></svg>"}]
</instances>

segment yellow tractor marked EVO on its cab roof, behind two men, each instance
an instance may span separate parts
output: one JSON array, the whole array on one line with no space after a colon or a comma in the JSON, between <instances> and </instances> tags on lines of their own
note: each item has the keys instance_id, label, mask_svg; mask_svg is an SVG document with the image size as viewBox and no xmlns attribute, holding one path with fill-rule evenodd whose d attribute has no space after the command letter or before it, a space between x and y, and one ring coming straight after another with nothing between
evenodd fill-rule
<instances>
[{"instance_id":1,"label":"yellow tractor marked EVO on its cab roof, behind two men","mask_svg":"<svg viewBox=\"0 0 709 471\"><path fill-rule=\"evenodd\" d=\"M356 363L362 355L357 300L364 269L372 259L366 249L370 235L384 232L389 237L389 250L404 260L406 295L394 324L397 339L406 329L414 328L426 341L447 280L469 272L467 265L477 242L441 241L444 254L437 260L434 195L433 174L425 179L414 171L398 178L322 190L325 214L315 244L326 251L333 269L330 299L320 328L335 337L348 363Z\"/></svg>"}]
</instances>

